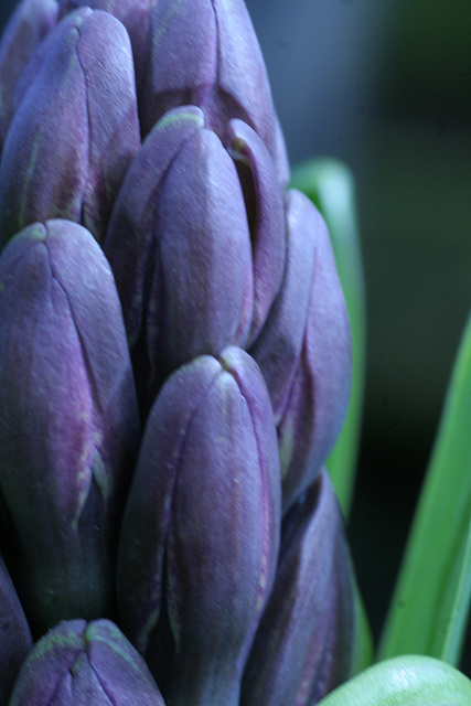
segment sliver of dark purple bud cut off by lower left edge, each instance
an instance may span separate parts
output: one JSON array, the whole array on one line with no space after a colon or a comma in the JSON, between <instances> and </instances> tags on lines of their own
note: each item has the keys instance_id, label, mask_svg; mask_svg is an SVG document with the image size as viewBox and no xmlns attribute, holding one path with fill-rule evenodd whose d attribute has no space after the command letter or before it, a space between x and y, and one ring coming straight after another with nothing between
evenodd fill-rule
<instances>
[{"instance_id":1,"label":"sliver of dark purple bud cut off by lower left edge","mask_svg":"<svg viewBox=\"0 0 471 706\"><path fill-rule=\"evenodd\" d=\"M0 557L0 704L7 704L18 671L33 646L17 591Z\"/></svg>"}]
</instances>

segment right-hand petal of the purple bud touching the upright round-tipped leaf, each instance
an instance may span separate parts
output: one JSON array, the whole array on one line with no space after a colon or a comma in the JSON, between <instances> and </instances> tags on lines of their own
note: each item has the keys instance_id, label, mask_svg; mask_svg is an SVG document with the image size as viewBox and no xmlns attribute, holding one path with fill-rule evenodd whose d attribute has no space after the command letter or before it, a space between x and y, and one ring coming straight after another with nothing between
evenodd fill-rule
<instances>
[{"instance_id":1,"label":"right-hand petal of the purple bud touching the upright round-tipped leaf","mask_svg":"<svg viewBox=\"0 0 471 706\"><path fill-rule=\"evenodd\" d=\"M346 413L351 335L325 224L320 223L304 340L288 404L278 424L283 510L310 485L329 456Z\"/></svg>"}]
</instances>

